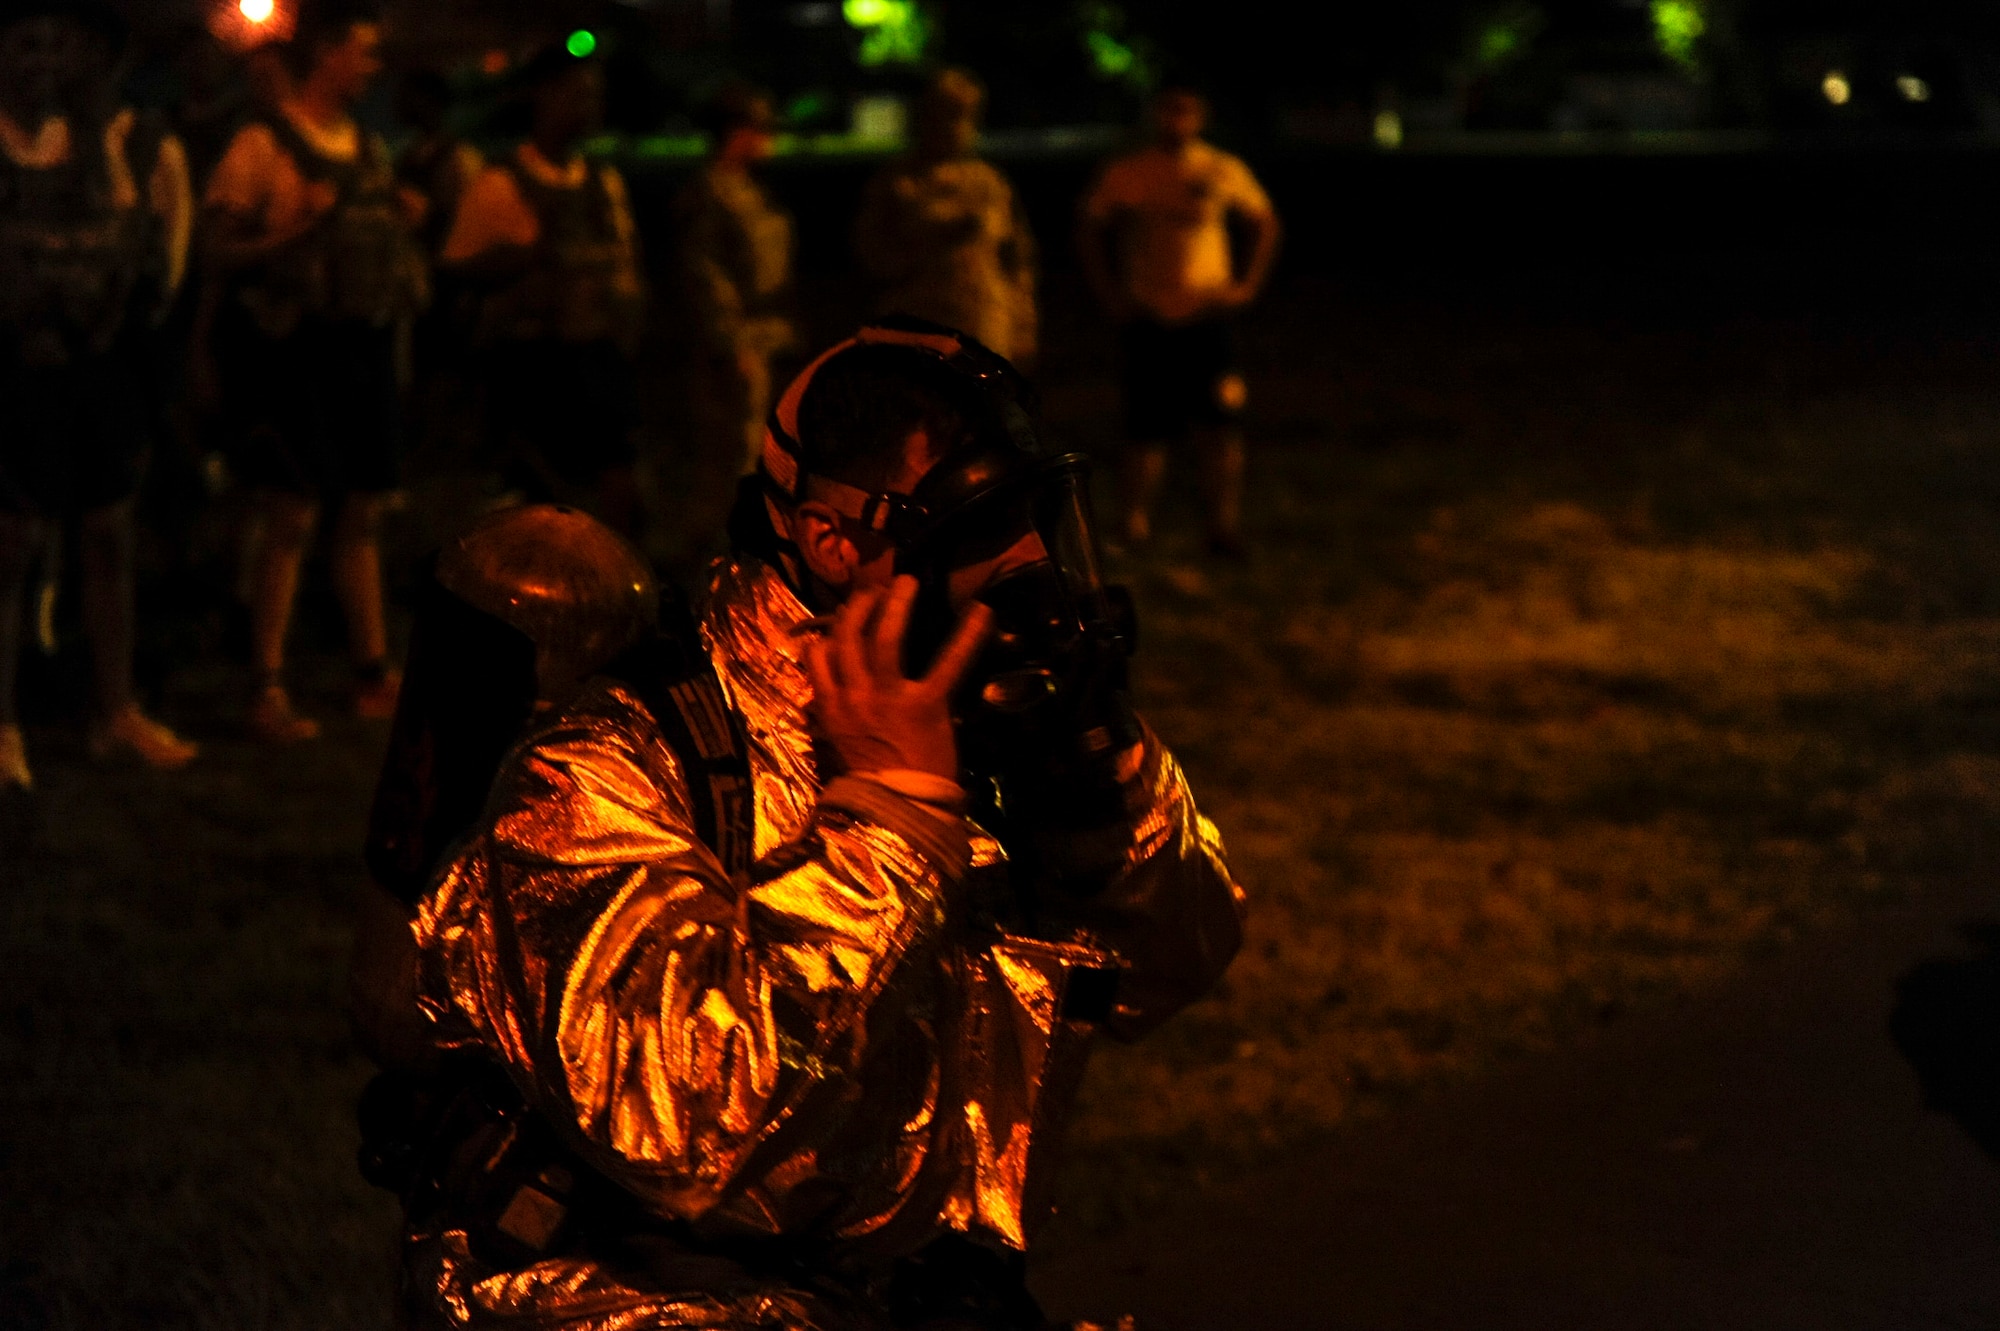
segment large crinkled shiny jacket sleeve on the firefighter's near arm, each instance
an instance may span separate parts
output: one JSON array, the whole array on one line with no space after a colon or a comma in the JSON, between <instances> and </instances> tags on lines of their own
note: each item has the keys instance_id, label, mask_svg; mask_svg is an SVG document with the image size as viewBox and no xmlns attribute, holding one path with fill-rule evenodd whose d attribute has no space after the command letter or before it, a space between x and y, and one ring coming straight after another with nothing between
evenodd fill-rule
<instances>
[{"instance_id":1,"label":"large crinkled shiny jacket sleeve on the firefighter's near arm","mask_svg":"<svg viewBox=\"0 0 2000 1331\"><path fill-rule=\"evenodd\" d=\"M970 859L962 819L850 777L732 881L672 753L606 725L518 749L486 823L416 923L440 1043L498 1057L598 1169L686 1219L856 1067Z\"/></svg>"}]
</instances>

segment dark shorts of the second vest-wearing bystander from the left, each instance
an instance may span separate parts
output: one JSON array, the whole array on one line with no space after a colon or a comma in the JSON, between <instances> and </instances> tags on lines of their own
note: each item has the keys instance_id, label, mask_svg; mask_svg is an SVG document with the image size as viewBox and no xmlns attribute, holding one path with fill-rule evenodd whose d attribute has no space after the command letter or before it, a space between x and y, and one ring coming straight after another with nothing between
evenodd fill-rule
<instances>
[{"instance_id":1,"label":"dark shorts of the second vest-wearing bystander from the left","mask_svg":"<svg viewBox=\"0 0 2000 1331\"><path fill-rule=\"evenodd\" d=\"M338 500L400 484L394 330L308 318L268 338L230 320L216 358L230 466L246 486Z\"/></svg>"}]
</instances>

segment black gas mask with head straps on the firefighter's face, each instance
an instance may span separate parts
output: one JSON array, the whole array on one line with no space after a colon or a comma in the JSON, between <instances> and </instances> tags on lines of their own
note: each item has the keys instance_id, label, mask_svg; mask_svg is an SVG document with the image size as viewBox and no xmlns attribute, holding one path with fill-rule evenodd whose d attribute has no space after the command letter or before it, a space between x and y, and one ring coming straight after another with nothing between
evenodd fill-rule
<instances>
[{"instance_id":1,"label":"black gas mask with head straps on the firefighter's face","mask_svg":"<svg viewBox=\"0 0 2000 1331\"><path fill-rule=\"evenodd\" d=\"M838 492L834 508L896 552L918 582L904 667L924 673L960 610L954 576L990 568L972 596L994 632L954 695L960 761L982 821L1018 853L1006 827L1096 829L1122 823L1116 759L1140 739L1126 689L1136 646L1132 602L1106 586L1082 454L1050 454L1034 392L978 342L918 320L862 330L814 362L772 412L764 482L798 500L798 406L812 374L854 346L908 348L910 376L946 396L966 424L912 494Z\"/></svg>"}]
</instances>

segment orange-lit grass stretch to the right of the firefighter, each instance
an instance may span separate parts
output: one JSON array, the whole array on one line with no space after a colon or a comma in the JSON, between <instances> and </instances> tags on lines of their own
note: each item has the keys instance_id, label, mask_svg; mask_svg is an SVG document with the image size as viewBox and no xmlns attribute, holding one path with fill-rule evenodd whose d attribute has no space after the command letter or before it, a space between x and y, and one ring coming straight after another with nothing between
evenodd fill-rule
<instances>
[{"instance_id":1,"label":"orange-lit grass stretch to the right of the firefighter","mask_svg":"<svg viewBox=\"0 0 2000 1331\"><path fill-rule=\"evenodd\" d=\"M1258 456L1248 570L1174 542L1126 570L1142 705L1252 919L1214 997L1096 1061L1068 1223L1976 863L2000 813L1984 388L1916 404L1880 368L1648 422L1656 384L1592 402L1630 366L1544 336L1572 396L1376 382L1346 432ZM1340 446L1440 396L1462 436Z\"/></svg>"}]
</instances>

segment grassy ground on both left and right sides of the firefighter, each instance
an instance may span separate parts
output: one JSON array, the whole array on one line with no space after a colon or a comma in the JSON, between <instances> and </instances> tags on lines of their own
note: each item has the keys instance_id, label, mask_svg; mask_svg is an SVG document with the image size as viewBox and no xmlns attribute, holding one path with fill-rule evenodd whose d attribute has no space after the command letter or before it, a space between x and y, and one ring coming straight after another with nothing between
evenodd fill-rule
<instances>
[{"instance_id":1,"label":"grassy ground on both left and right sides of the firefighter","mask_svg":"<svg viewBox=\"0 0 2000 1331\"><path fill-rule=\"evenodd\" d=\"M1250 941L1100 1057L1058 1243L1956 881L2000 811L1980 328L1298 278L1246 334L1250 562L1198 556L1182 468L1122 576ZM1064 438L1112 436L1106 368L1058 288ZM340 1013L382 731L252 747L216 634L160 644L200 765L50 713L0 833L0 1325L384 1325Z\"/></svg>"}]
</instances>

